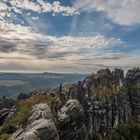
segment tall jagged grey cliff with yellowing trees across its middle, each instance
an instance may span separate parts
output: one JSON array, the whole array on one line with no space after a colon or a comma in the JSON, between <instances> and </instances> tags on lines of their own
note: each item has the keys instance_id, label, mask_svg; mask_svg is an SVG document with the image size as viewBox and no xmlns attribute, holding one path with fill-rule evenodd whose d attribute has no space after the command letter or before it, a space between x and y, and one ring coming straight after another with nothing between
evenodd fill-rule
<instances>
[{"instance_id":1,"label":"tall jagged grey cliff with yellowing trees across its middle","mask_svg":"<svg viewBox=\"0 0 140 140\"><path fill-rule=\"evenodd\" d=\"M87 127L103 135L131 115L123 70L100 70L83 81L87 92ZM86 96L87 96L86 95Z\"/></svg>"}]
</instances>

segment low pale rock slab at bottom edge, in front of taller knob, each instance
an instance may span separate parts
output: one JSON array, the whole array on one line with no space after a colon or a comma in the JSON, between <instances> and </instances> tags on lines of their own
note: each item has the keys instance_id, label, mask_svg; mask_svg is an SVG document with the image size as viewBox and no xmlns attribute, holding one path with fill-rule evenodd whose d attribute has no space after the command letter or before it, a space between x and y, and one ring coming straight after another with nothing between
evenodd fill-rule
<instances>
[{"instance_id":1,"label":"low pale rock slab at bottom edge, in front of taller knob","mask_svg":"<svg viewBox=\"0 0 140 140\"><path fill-rule=\"evenodd\" d=\"M59 140L52 120L39 119L28 125L26 130L13 135L13 140Z\"/></svg>"}]
</instances>

